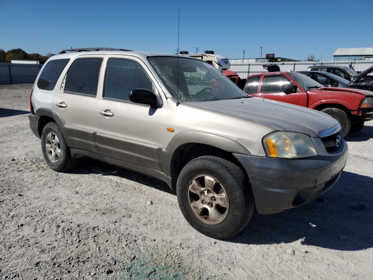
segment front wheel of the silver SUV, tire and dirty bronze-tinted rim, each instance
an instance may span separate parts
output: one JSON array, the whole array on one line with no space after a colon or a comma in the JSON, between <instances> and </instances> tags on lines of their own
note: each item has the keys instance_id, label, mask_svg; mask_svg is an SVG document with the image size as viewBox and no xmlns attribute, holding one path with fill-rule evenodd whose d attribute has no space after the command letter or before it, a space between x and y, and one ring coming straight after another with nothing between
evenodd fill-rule
<instances>
[{"instance_id":1,"label":"front wheel of the silver SUV, tire and dirty bronze-tinted rim","mask_svg":"<svg viewBox=\"0 0 373 280\"><path fill-rule=\"evenodd\" d=\"M207 191L208 184L204 184L206 180L216 180L216 183L212 184L210 194ZM195 189L191 190L193 186L198 185L194 184L195 181L201 182L199 186L202 188L196 187L197 193L201 192L200 195L194 193ZM237 234L247 225L254 212L253 192L242 170L237 165L216 156L201 156L188 162L179 174L176 193L186 221L195 230L214 239L226 239ZM223 194L228 197L225 201ZM219 202L228 205L225 211ZM192 209L192 203L205 205L201 208L200 214ZM198 206L195 209L197 208ZM220 220L214 220L219 215Z\"/></svg>"}]
</instances>

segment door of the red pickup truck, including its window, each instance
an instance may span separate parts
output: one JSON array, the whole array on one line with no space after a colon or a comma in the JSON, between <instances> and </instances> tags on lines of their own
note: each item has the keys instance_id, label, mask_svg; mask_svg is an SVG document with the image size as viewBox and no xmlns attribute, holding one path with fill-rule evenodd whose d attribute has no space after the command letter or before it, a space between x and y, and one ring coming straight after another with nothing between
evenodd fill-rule
<instances>
[{"instance_id":1,"label":"door of the red pickup truck, including its window","mask_svg":"<svg viewBox=\"0 0 373 280\"><path fill-rule=\"evenodd\" d=\"M283 92L285 85L290 82L283 74L266 74L261 81L259 94L255 96L307 107L307 93L302 88L298 87L295 93Z\"/></svg>"}]
</instances>

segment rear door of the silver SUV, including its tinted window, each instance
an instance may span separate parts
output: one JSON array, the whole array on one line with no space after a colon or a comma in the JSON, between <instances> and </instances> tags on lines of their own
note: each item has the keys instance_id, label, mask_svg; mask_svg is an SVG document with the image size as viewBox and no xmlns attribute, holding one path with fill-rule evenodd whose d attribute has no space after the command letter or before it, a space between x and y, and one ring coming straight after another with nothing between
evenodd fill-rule
<instances>
[{"instance_id":1,"label":"rear door of the silver SUV, including its tinted window","mask_svg":"<svg viewBox=\"0 0 373 280\"><path fill-rule=\"evenodd\" d=\"M95 144L98 77L103 57L81 56L70 65L57 88L52 109L65 122L61 127L69 147L99 153Z\"/></svg>"}]
</instances>

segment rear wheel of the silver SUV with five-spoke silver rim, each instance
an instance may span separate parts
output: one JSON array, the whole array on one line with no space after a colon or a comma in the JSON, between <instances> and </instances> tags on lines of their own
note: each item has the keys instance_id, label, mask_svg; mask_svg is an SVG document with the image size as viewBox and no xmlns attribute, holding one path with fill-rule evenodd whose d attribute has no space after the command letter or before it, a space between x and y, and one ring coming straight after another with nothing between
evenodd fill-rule
<instances>
[{"instance_id":1,"label":"rear wheel of the silver SUV with five-spoke silver rim","mask_svg":"<svg viewBox=\"0 0 373 280\"><path fill-rule=\"evenodd\" d=\"M48 122L43 128L41 150L48 166L54 171L67 171L76 164L76 159L71 157L70 149L56 122Z\"/></svg>"}]
</instances>

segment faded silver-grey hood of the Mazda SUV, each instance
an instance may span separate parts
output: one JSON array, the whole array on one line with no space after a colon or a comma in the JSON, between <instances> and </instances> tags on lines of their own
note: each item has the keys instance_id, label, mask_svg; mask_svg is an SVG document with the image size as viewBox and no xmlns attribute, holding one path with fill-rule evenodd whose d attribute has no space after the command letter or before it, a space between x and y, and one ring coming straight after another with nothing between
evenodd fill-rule
<instances>
[{"instance_id":1,"label":"faded silver-grey hood of the Mazda SUV","mask_svg":"<svg viewBox=\"0 0 373 280\"><path fill-rule=\"evenodd\" d=\"M259 97L188 104L269 125L274 130L305 133L313 138L338 125L336 119L325 113Z\"/></svg>"}]
</instances>

